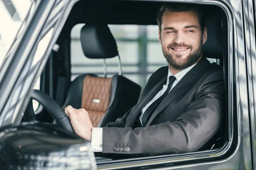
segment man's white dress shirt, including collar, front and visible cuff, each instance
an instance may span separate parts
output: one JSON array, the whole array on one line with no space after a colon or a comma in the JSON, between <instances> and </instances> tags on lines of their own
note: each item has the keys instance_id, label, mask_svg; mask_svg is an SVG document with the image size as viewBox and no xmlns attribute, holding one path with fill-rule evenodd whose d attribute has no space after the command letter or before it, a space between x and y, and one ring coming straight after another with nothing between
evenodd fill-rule
<instances>
[{"instance_id":1,"label":"man's white dress shirt, including collar, front and visible cuff","mask_svg":"<svg viewBox=\"0 0 256 170\"><path fill-rule=\"evenodd\" d=\"M173 75L171 73L171 71L168 69L168 76L167 76L166 84L163 85L163 88L153 97L153 99L151 99L151 101L148 102L147 105L145 105L145 107L141 111L141 115L140 115L141 124L142 124L142 116L143 116L144 112L147 110L147 108L154 101L156 101L160 96L162 96L164 94L164 92L167 90L167 87L168 87L168 84L169 84L169 77L174 76L176 78L175 81L172 84L172 88L174 88L175 85L177 85L177 83L180 81L180 79L182 79L182 77L184 77L185 74L187 72L189 72L189 70L191 70L196 64L197 63L195 63L194 65L191 65L188 68L185 68L184 70L178 72L175 75ZM172 88L170 89L170 91L172 90ZM102 127L93 127L92 140L91 140L91 147L92 147L93 152L102 152L102 131L103 131Z\"/></svg>"}]
</instances>

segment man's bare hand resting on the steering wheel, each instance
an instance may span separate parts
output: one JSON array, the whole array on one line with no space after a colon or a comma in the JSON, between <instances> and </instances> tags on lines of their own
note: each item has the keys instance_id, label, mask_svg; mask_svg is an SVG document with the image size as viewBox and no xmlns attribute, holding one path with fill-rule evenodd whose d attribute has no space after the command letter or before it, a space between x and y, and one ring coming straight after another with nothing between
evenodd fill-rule
<instances>
[{"instance_id":1,"label":"man's bare hand resting on the steering wheel","mask_svg":"<svg viewBox=\"0 0 256 170\"><path fill-rule=\"evenodd\" d=\"M76 134L87 141L91 141L93 125L88 112L84 109L75 109L72 106L67 106L65 113L70 118Z\"/></svg>"}]
</instances>

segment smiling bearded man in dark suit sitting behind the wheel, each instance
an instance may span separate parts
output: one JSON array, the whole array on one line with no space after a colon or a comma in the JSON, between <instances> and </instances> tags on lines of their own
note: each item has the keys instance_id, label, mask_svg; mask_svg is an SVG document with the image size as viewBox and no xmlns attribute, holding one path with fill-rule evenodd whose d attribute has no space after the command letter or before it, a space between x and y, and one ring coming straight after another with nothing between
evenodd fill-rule
<instances>
[{"instance_id":1,"label":"smiling bearded man in dark suit sitting behind the wheel","mask_svg":"<svg viewBox=\"0 0 256 170\"><path fill-rule=\"evenodd\" d=\"M203 57L207 28L199 6L165 4L157 13L157 22L169 67L152 74L137 105L104 128L93 128L84 109L65 108L76 134L91 141L95 152L192 152L207 144L219 130L223 71Z\"/></svg>"}]
</instances>

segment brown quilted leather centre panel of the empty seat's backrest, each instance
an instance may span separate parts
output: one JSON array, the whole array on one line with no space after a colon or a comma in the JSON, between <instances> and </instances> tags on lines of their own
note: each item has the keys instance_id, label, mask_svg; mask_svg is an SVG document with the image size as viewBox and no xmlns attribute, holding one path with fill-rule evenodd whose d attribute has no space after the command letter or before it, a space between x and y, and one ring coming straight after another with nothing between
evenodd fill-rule
<instances>
[{"instance_id":1,"label":"brown quilted leather centre panel of the empty seat's backrest","mask_svg":"<svg viewBox=\"0 0 256 170\"><path fill-rule=\"evenodd\" d=\"M97 127L104 116L110 101L113 77L93 77L86 75L83 82L81 108L89 113L93 127ZM93 102L94 99L99 103Z\"/></svg>"}]
</instances>

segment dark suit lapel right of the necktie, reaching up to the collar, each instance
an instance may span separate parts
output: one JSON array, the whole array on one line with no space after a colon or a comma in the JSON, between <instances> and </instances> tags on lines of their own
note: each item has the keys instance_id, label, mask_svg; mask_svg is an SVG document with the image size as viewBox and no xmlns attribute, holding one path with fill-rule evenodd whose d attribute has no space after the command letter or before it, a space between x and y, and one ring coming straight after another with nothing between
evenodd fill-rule
<instances>
[{"instance_id":1,"label":"dark suit lapel right of the necktie, reaching up to the collar","mask_svg":"<svg viewBox=\"0 0 256 170\"><path fill-rule=\"evenodd\" d=\"M168 106L173 100L191 89L196 84L196 82L198 82L202 74L207 70L208 66L209 61L205 57L202 57L197 65L195 65L182 79L180 79L177 85L175 85L175 87L163 99L163 101L160 102L160 104L148 120L146 126L150 125L153 122L154 118L161 111L163 111L163 109L166 108L166 106Z\"/></svg>"}]
</instances>

